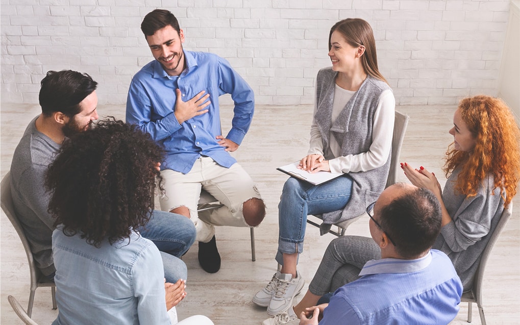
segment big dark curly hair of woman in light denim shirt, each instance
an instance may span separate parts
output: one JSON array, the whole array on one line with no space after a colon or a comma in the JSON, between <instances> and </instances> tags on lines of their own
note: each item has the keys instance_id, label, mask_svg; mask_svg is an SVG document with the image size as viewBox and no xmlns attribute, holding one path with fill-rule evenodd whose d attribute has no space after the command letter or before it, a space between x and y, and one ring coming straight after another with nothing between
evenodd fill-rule
<instances>
[{"instance_id":1,"label":"big dark curly hair of woman in light denim shirt","mask_svg":"<svg viewBox=\"0 0 520 325\"><path fill-rule=\"evenodd\" d=\"M128 238L150 219L163 156L149 134L113 117L71 136L45 176L55 227L98 248Z\"/></svg>"}]
</instances>

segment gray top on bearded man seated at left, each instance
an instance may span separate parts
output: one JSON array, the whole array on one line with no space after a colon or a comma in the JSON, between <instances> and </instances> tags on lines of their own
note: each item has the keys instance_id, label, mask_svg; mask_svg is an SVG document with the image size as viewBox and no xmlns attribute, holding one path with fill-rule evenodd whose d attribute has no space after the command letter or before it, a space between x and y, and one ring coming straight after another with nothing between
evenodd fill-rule
<instances>
[{"instance_id":1,"label":"gray top on bearded man seated at left","mask_svg":"<svg viewBox=\"0 0 520 325\"><path fill-rule=\"evenodd\" d=\"M12 157L11 192L15 210L31 251L44 275L53 274L52 235L54 219L47 212L49 194L44 190L44 175L54 160L59 145L37 131L34 118Z\"/></svg>"}]
</instances>

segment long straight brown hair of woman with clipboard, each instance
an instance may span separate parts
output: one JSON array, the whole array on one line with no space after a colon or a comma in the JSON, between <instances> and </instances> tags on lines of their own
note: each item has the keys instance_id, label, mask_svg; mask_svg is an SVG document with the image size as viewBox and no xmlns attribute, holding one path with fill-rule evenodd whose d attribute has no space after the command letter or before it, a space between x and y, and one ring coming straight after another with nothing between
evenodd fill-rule
<instances>
[{"instance_id":1,"label":"long straight brown hair of woman with clipboard","mask_svg":"<svg viewBox=\"0 0 520 325\"><path fill-rule=\"evenodd\" d=\"M332 47L330 42L334 31L341 33L350 46L365 46L365 53L361 56L361 64L365 73L388 83L385 77L379 72L374 33L367 21L360 18L347 18L336 22L330 29L329 51Z\"/></svg>"}]
</instances>

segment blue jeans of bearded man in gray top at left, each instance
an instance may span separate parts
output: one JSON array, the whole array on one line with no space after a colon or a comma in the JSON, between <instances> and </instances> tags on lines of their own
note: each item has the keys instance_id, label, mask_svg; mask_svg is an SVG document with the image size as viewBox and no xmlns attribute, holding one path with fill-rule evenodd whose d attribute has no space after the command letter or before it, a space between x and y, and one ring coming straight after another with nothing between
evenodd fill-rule
<instances>
[{"instance_id":1,"label":"blue jeans of bearded man in gray top at left","mask_svg":"<svg viewBox=\"0 0 520 325\"><path fill-rule=\"evenodd\" d=\"M195 241L195 226L179 214L154 210L150 221L140 227L142 237L151 240L161 252L166 282L175 283L188 276L186 264L179 258Z\"/></svg>"}]
</instances>

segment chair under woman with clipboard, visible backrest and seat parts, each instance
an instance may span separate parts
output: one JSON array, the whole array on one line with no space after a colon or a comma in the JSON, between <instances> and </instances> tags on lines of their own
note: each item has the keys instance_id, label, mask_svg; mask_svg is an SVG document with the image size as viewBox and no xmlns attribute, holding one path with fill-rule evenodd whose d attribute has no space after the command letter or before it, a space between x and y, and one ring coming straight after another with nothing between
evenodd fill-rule
<instances>
[{"instance_id":1,"label":"chair under woman with clipboard, visible backrest and seat parts","mask_svg":"<svg viewBox=\"0 0 520 325\"><path fill-rule=\"evenodd\" d=\"M385 187L394 185L397 181L397 175L400 172L399 155L401 154L402 141L405 139L406 127L408 126L409 119L410 117L407 114L395 111L394 134L392 137L392 157L390 158L390 170L388 172ZM341 223L334 224L334 226L337 226L337 231L331 229L329 232L337 237L343 236L345 235L345 230L350 224L353 224L356 220L365 215L367 215L367 213L363 212L363 214L352 219L347 219ZM320 226L318 223L309 220L308 218L307 223L316 227Z\"/></svg>"}]
</instances>

